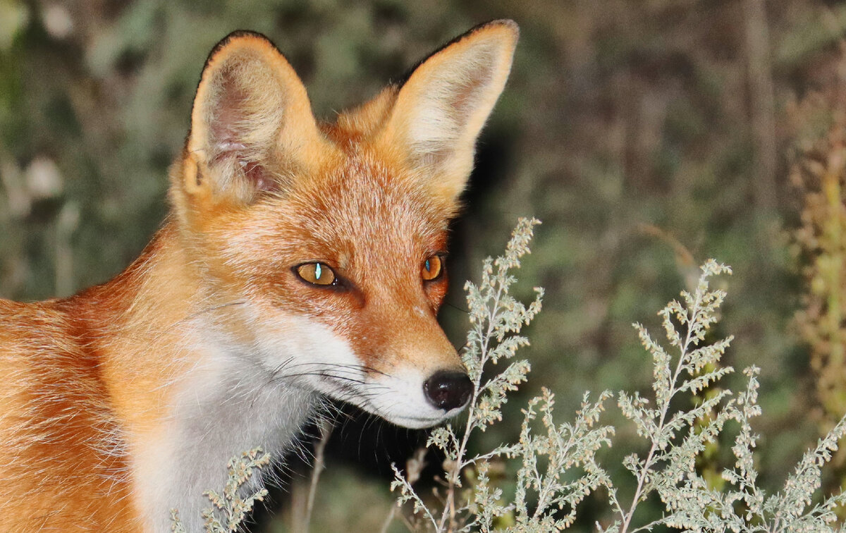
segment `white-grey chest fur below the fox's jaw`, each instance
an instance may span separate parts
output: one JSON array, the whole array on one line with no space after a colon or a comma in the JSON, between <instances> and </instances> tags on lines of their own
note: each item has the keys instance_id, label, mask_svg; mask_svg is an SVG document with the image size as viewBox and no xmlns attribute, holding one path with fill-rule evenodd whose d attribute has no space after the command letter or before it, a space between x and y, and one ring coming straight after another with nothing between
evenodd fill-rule
<instances>
[{"instance_id":1,"label":"white-grey chest fur below the fox's jaw","mask_svg":"<svg viewBox=\"0 0 846 533\"><path fill-rule=\"evenodd\" d=\"M201 531L201 511L211 507L203 492L222 491L228 460L256 447L282 460L317 404L296 379L274 379L230 349L213 352L184 380L162 431L135 454L146 530L170 531L176 508L187 531Z\"/></svg>"}]
</instances>

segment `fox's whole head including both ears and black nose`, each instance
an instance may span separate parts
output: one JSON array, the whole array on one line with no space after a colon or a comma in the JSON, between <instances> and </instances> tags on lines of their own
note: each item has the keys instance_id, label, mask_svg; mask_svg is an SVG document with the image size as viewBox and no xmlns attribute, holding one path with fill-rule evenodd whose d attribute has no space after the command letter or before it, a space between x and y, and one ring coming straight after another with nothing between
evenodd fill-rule
<instances>
[{"instance_id":1,"label":"fox's whole head including both ears and black nose","mask_svg":"<svg viewBox=\"0 0 846 533\"><path fill-rule=\"evenodd\" d=\"M319 124L264 36L211 52L170 196L214 327L268 379L406 427L472 387L437 324L448 223L518 38L500 20Z\"/></svg>"}]
</instances>

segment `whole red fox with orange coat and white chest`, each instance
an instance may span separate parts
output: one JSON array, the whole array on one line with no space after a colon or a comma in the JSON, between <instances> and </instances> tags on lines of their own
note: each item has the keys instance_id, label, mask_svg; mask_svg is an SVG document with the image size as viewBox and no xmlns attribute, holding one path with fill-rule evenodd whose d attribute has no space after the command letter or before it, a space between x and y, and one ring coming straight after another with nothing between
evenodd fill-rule
<instances>
[{"instance_id":1,"label":"whole red fox with orange coat and white chest","mask_svg":"<svg viewBox=\"0 0 846 533\"><path fill-rule=\"evenodd\" d=\"M0 531L202 530L226 461L336 398L410 428L472 385L436 321L449 221L518 28L480 25L318 123L266 37L202 71L171 214L112 281L0 299Z\"/></svg>"}]
</instances>

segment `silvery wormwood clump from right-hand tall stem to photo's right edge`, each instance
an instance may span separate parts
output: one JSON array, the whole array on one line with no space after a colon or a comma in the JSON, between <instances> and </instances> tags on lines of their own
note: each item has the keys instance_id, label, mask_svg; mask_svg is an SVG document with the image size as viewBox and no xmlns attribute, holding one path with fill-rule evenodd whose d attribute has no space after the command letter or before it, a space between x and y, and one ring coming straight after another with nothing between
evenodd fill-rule
<instances>
[{"instance_id":1,"label":"silvery wormwood clump from right-hand tall stem to photo's right edge","mask_svg":"<svg viewBox=\"0 0 846 533\"><path fill-rule=\"evenodd\" d=\"M751 420L761 415L757 367L744 370L747 384L741 393L725 389L694 403L693 409L675 413L670 409L673 398L680 393L695 396L733 371L731 367L718 366L732 338L705 343L725 298L721 290L708 287L708 278L721 273L731 270L716 261L707 261L695 293L683 292L682 302L670 302L659 312L667 342L678 355L671 356L644 327L634 325L652 356L656 407L650 408L651 398L637 393L619 393L618 404L634 422L638 434L649 440L650 449L644 458L633 453L624 460L636 481L628 508L619 503L617 490L608 486L609 503L618 520L604 531L634 533L657 525L702 532L834 530L837 516L833 510L846 503L846 494L838 492L821 503L814 502L821 486L821 467L832 459L838 442L846 436L846 418L821 438L816 448L805 453L783 490L770 496L757 484L752 452L759 437L752 430ZM707 444L716 442L728 423L739 425L732 447L734 465L722 471L727 484L717 490L696 471L695 461ZM651 492L661 498L664 514L649 524L636 526L634 512ZM597 527L603 530L602 526Z\"/></svg>"}]
</instances>

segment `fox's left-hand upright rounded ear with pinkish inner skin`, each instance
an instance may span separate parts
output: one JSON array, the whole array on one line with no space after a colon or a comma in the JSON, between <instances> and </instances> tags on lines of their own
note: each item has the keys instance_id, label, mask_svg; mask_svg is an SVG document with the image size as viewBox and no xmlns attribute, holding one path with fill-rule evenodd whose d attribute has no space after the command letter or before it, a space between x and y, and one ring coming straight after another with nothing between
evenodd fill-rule
<instances>
[{"instance_id":1,"label":"fox's left-hand upright rounded ear with pinkish inner skin","mask_svg":"<svg viewBox=\"0 0 846 533\"><path fill-rule=\"evenodd\" d=\"M235 32L211 51L197 87L184 190L249 202L282 185L286 170L313 164L307 152L324 142L282 53L265 36Z\"/></svg>"}]
</instances>

